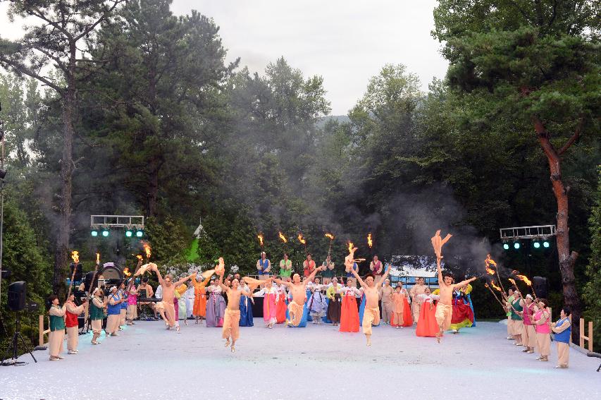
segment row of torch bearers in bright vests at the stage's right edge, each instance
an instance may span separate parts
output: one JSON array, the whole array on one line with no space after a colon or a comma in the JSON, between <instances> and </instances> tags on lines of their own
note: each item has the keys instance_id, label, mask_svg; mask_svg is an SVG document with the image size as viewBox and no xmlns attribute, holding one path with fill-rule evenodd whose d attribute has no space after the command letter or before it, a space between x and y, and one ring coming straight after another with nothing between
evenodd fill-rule
<instances>
[{"instance_id":1,"label":"row of torch bearers in bright vests at the stage's right edge","mask_svg":"<svg viewBox=\"0 0 601 400\"><path fill-rule=\"evenodd\" d=\"M523 353L538 353L537 360L548 361L551 347L551 333L557 344L557 365L555 368L568 368L569 343L571 337L570 309L564 306L559 320L551 322L549 303L545 298L531 294L523 297L514 286L504 296L507 312L507 340L514 340Z\"/></svg>"}]
</instances>

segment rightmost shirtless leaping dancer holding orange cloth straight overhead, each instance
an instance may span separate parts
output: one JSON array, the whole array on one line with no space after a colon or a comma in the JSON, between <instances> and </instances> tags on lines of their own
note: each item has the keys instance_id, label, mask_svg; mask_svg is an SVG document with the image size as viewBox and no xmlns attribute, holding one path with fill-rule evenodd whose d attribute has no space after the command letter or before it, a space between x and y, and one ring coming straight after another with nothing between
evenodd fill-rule
<instances>
[{"instance_id":1,"label":"rightmost shirtless leaping dancer holding orange cloth straight overhead","mask_svg":"<svg viewBox=\"0 0 601 400\"><path fill-rule=\"evenodd\" d=\"M440 231L436 231L436 235L432 238L432 245L434 246L434 252L436 254L436 268L438 269L438 286L440 289L440 299L438 305L436 305L436 323L438 324L438 333L436 334L436 340L440 343L442 332L449 329L451 325L451 317L453 315L453 291L469 284L471 281L475 281L476 277L466 279L458 284L453 284L453 277L449 273L442 275L442 269L440 269L440 259L442 258L441 249L442 245L445 244L451 235L443 240L440 239Z\"/></svg>"}]
</instances>

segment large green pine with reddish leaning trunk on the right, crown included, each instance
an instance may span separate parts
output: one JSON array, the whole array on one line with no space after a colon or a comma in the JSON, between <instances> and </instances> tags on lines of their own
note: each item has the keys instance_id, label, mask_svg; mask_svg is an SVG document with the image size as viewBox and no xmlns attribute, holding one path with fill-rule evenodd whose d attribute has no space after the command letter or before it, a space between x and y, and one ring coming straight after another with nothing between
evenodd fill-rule
<instances>
[{"instance_id":1,"label":"large green pine with reddish leaning trunk on the right, crown included","mask_svg":"<svg viewBox=\"0 0 601 400\"><path fill-rule=\"evenodd\" d=\"M595 6L596 4L596 6ZM442 0L433 36L445 42L452 87L490 104L489 118L511 116L534 131L557 201L557 254L566 305L581 304L569 242L566 152L598 130L601 22L596 1ZM578 150L578 147L576 147ZM578 335L578 329L574 329Z\"/></svg>"}]
</instances>

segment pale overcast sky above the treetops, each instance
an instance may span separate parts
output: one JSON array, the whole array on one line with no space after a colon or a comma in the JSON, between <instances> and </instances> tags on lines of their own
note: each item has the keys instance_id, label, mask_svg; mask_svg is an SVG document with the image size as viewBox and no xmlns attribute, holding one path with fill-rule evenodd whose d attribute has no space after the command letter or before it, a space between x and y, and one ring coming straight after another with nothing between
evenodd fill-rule
<instances>
[{"instance_id":1,"label":"pale overcast sky above the treetops","mask_svg":"<svg viewBox=\"0 0 601 400\"><path fill-rule=\"evenodd\" d=\"M430 35L434 0L173 0L173 13L196 9L215 20L228 61L262 73L283 56L305 76L321 75L332 115L347 114L386 63L421 79L444 78L447 61ZM0 36L20 35L0 3Z\"/></svg>"}]
</instances>

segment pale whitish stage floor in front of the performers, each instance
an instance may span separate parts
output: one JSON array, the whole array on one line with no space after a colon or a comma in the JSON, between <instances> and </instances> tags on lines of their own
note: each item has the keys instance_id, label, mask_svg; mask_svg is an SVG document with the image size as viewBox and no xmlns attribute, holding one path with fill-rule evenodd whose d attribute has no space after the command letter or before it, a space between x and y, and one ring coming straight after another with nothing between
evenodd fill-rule
<instances>
[{"instance_id":1,"label":"pale whitish stage floor in front of the performers","mask_svg":"<svg viewBox=\"0 0 601 400\"><path fill-rule=\"evenodd\" d=\"M80 353L49 361L29 354L20 367L0 367L0 399L601 399L599 358L571 349L570 368L521 352L505 339L505 325L446 334L442 344L414 328L361 333L330 325L266 329L261 318L240 328L236 353L223 347L220 328L137 322L119 337L80 336Z\"/></svg>"}]
</instances>

